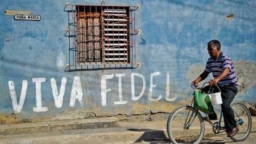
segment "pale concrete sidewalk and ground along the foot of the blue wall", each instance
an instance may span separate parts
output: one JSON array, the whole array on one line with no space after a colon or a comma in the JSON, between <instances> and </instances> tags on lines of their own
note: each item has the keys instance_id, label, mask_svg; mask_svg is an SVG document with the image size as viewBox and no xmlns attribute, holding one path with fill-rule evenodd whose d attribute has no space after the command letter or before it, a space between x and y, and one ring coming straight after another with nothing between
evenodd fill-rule
<instances>
[{"instance_id":1,"label":"pale concrete sidewalk and ground along the foot of the blue wall","mask_svg":"<svg viewBox=\"0 0 256 144\"><path fill-rule=\"evenodd\" d=\"M115 117L107 117L0 125L0 143L135 143L167 140L166 121L118 122ZM252 132L256 132L256 117L252 117L252 122ZM212 134L211 129L210 124L205 123L205 135Z\"/></svg>"}]
</instances>

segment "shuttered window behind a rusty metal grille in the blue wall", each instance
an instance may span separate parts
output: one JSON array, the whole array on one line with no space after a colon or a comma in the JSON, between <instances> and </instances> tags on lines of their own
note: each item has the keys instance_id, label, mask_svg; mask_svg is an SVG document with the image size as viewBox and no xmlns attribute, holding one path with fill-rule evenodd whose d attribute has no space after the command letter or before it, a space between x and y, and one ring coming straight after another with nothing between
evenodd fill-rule
<instances>
[{"instance_id":1,"label":"shuttered window behind a rusty metal grille in the blue wall","mask_svg":"<svg viewBox=\"0 0 256 144\"><path fill-rule=\"evenodd\" d=\"M69 6L69 10L67 6ZM137 6L66 5L69 66L66 70L134 68Z\"/></svg>"}]
</instances>

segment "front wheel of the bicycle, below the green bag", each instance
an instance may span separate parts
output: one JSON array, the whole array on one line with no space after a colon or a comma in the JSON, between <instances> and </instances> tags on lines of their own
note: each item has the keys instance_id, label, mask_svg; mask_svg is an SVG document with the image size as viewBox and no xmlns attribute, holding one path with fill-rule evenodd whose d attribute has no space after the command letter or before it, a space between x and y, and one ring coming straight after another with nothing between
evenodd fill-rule
<instances>
[{"instance_id":1,"label":"front wheel of the bicycle, below the green bag","mask_svg":"<svg viewBox=\"0 0 256 144\"><path fill-rule=\"evenodd\" d=\"M173 143L200 143L205 132L205 124L196 109L182 106L170 114L167 132Z\"/></svg>"}]
</instances>

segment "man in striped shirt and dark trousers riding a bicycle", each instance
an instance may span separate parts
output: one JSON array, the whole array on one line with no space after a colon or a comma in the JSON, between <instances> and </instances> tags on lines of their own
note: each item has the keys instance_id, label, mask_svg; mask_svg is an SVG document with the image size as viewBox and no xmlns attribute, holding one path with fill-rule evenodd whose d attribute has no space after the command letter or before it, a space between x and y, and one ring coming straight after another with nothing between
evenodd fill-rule
<instances>
[{"instance_id":1,"label":"man in striped shirt and dark trousers riding a bicycle","mask_svg":"<svg viewBox=\"0 0 256 144\"><path fill-rule=\"evenodd\" d=\"M203 88L202 91L208 92L211 86L218 85L221 90L221 98L223 103L221 109L223 111L223 118L228 137L233 137L239 131L236 121L234 119L234 112L231 109L231 102L237 93L237 78L234 72L233 62L228 54L221 52L221 44L218 40L211 40L208 42L208 53L210 58L207 61L205 70L192 83L197 87L198 83L208 77L210 72L213 74L213 79L210 80L210 85ZM212 87L210 92L214 93L218 88ZM216 113L209 114L211 120L217 119Z\"/></svg>"}]
</instances>

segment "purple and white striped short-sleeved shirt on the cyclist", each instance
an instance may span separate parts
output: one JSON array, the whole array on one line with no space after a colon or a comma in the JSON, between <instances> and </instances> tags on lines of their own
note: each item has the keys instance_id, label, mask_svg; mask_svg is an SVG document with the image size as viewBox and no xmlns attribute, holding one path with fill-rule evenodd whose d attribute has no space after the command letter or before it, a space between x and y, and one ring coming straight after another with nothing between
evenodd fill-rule
<instances>
[{"instance_id":1,"label":"purple and white striped short-sleeved shirt on the cyclist","mask_svg":"<svg viewBox=\"0 0 256 144\"><path fill-rule=\"evenodd\" d=\"M225 68L229 69L229 73L226 77L218 82L218 85L234 85L237 86L237 78L234 72L233 62L228 54L220 53L218 59L212 59L211 57L207 61L205 72L212 72L213 77L217 78Z\"/></svg>"}]
</instances>

